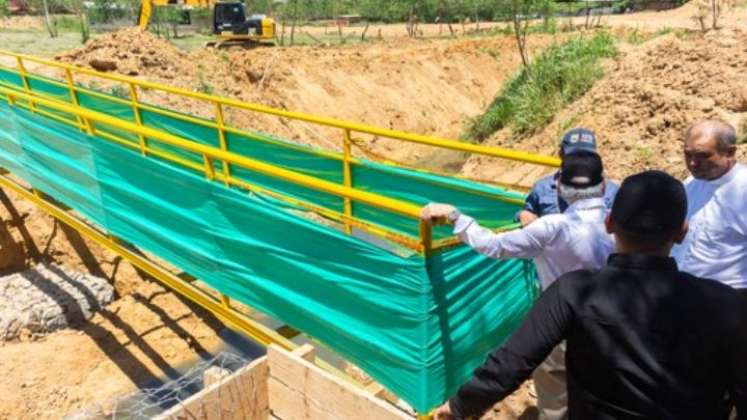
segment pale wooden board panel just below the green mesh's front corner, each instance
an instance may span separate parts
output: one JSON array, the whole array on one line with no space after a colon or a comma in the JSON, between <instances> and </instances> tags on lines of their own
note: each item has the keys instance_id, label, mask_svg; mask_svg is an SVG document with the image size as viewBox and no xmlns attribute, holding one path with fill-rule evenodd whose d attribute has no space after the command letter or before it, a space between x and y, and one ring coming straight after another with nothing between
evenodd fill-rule
<instances>
[{"instance_id":1,"label":"pale wooden board panel just below the green mesh's front corner","mask_svg":"<svg viewBox=\"0 0 747 420\"><path fill-rule=\"evenodd\" d=\"M278 346L267 348L267 360L270 409L283 420L412 420L389 403Z\"/></svg>"}]
</instances>

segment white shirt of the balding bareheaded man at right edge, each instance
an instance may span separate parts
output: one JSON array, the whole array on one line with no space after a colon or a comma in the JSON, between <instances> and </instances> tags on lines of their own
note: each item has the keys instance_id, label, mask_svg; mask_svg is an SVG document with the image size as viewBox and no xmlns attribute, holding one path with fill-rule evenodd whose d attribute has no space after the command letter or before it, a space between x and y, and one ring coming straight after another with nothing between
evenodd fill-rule
<instances>
[{"instance_id":1,"label":"white shirt of the balding bareheaded man at right edge","mask_svg":"<svg viewBox=\"0 0 747 420\"><path fill-rule=\"evenodd\" d=\"M672 249L681 271L747 288L747 166L713 181L689 177L685 240Z\"/></svg>"}]
</instances>

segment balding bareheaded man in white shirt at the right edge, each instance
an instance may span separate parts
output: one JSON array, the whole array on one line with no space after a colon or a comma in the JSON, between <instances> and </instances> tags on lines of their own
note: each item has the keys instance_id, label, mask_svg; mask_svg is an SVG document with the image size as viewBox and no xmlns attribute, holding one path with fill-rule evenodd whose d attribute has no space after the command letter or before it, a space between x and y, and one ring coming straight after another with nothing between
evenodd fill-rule
<instances>
[{"instance_id":1,"label":"balding bareheaded man in white shirt at the right edge","mask_svg":"<svg viewBox=\"0 0 747 420\"><path fill-rule=\"evenodd\" d=\"M747 166L736 158L734 127L694 124L685 136L689 231L672 250L679 269L718 280L747 298Z\"/></svg>"}]
</instances>

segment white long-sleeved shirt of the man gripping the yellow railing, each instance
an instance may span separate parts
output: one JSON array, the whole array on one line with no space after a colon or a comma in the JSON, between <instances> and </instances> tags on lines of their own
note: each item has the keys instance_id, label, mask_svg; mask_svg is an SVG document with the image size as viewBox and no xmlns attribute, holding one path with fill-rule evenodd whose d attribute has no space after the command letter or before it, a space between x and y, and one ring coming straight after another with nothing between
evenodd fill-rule
<instances>
[{"instance_id":1,"label":"white long-sleeved shirt of the man gripping the yellow railing","mask_svg":"<svg viewBox=\"0 0 747 420\"><path fill-rule=\"evenodd\" d=\"M603 198L579 200L562 214L540 217L523 229L495 233L460 215L454 234L490 258L534 258L542 290L565 273L598 270L614 248L604 228Z\"/></svg>"}]
</instances>

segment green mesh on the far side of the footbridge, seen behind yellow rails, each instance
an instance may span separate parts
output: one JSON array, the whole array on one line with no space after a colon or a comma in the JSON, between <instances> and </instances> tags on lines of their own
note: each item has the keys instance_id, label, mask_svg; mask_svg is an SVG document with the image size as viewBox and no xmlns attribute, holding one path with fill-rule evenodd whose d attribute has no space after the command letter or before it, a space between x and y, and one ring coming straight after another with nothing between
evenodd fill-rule
<instances>
[{"instance_id":1,"label":"green mesh on the far side of the footbridge, seen behind yellow rails","mask_svg":"<svg viewBox=\"0 0 747 420\"><path fill-rule=\"evenodd\" d=\"M58 82L59 83L59 82ZM22 88L21 78L7 69L0 69L0 84ZM30 88L45 96L70 102L70 93L66 87L58 86L54 81L35 76L30 79ZM78 101L81 106L106 113L108 115L135 122L132 105L129 98L121 98L102 92L90 90L79 92ZM161 109L157 107L152 107ZM173 112L173 111L171 111ZM175 114L178 114L174 112ZM140 112L142 123L177 135L200 144L218 147L218 131L213 127L186 122L169 115L163 115L153 110L143 109ZM75 117L67 115L69 121ZM200 120L205 121L207 120ZM115 134L124 140L138 143L137 136L123 133L117 129L97 124L96 129ZM342 133L340 133L342 136ZM154 139L146 139L149 146L156 150L166 151L179 158L202 165L202 156L180 150ZM226 143L230 151L248 156L263 162L293 170L305 175L311 175L326 181L342 183L342 162L339 159L324 154L322 151L309 147L301 147L287 141L276 139L260 133L234 132L226 133ZM231 174L236 178L251 182L255 185L279 191L295 199L313 203L317 206L342 212L343 200L339 197L320 193L308 188L298 187L286 181L270 178L256 172L230 165ZM222 170L222 164L216 162L216 171ZM501 227L513 223L516 207L501 202L500 198L523 199L523 195L505 189L489 187L474 182L437 176L428 173L404 170L390 165L381 165L361 160L352 165L352 183L355 188L400 198L416 204L426 204L430 201L445 201L457 205L465 213L479 219L484 225ZM399 233L418 236L417 222L380 209L366 205L353 205L353 215L370 223L381 225ZM449 235L446 228L436 229L435 238Z\"/></svg>"}]
</instances>

